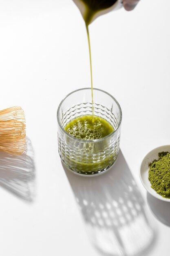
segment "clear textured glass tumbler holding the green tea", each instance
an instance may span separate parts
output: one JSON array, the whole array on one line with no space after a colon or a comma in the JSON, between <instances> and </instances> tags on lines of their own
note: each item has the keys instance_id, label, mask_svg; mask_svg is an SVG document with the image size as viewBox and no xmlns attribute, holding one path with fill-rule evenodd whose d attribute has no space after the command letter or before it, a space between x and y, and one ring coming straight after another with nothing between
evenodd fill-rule
<instances>
[{"instance_id":1,"label":"clear textured glass tumbler holding the green tea","mask_svg":"<svg viewBox=\"0 0 170 256\"><path fill-rule=\"evenodd\" d=\"M93 89L94 115L104 118L114 131L95 140L77 139L68 134L64 127L74 118L92 115L91 88L71 92L60 103L57 110L58 150L62 162L79 175L104 173L117 159L120 144L121 108L107 92Z\"/></svg>"}]
</instances>

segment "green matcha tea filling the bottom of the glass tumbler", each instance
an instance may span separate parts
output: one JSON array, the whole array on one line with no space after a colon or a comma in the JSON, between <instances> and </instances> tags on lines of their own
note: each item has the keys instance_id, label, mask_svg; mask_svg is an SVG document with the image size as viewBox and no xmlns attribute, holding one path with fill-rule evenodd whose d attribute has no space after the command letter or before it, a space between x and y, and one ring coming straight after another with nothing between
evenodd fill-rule
<instances>
[{"instance_id":1,"label":"green matcha tea filling the bottom of the glass tumbler","mask_svg":"<svg viewBox=\"0 0 170 256\"><path fill-rule=\"evenodd\" d=\"M67 143L72 143L73 150L79 152L76 157L73 154L69 159L67 158L69 168L79 170L79 173L93 174L115 162L116 153L113 151L110 139L106 137L114 129L106 119L95 115L80 116L66 124L64 130L75 137L74 142L68 138ZM106 139L99 140L104 137Z\"/></svg>"}]
</instances>

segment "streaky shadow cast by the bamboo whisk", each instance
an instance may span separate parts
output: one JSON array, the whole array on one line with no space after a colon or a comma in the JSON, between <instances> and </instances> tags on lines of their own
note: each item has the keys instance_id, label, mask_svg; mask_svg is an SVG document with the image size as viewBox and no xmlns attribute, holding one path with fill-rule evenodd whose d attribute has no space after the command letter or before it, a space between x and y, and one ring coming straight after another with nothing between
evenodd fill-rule
<instances>
[{"instance_id":1,"label":"streaky shadow cast by the bamboo whisk","mask_svg":"<svg viewBox=\"0 0 170 256\"><path fill-rule=\"evenodd\" d=\"M32 202L35 194L35 165L33 147L28 137L26 148L25 153L17 156L0 152L0 186Z\"/></svg>"}]
</instances>

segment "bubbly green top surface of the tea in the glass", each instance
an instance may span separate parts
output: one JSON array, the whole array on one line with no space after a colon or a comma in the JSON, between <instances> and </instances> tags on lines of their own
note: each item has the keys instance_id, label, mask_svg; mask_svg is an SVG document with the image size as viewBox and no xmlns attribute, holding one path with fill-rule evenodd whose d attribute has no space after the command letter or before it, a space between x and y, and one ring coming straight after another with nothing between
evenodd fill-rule
<instances>
[{"instance_id":1,"label":"bubbly green top surface of the tea in the glass","mask_svg":"<svg viewBox=\"0 0 170 256\"><path fill-rule=\"evenodd\" d=\"M64 130L77 139L101 139L111 132L113 127L102 117L84 115L69 122Z\"/></svg>"}]
</instances>

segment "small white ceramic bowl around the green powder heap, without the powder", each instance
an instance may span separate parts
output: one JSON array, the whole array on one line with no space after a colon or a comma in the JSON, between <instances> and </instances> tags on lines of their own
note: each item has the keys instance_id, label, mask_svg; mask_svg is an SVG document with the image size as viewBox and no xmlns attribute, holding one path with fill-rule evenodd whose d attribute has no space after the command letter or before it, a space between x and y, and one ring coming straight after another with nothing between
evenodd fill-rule
<instances>
[{"instance_id":1,"label":"small white ceramic bowl around the green powder heap, without the powder","mask_svg":"<svg viewBox=\"0 0 170 256\"><path fill-rule=\"evenodd\" d=\"M144 185L144 187L146 188L146 190L153 195L155 198L158 198L160 200L166 201L166 202L170 202L170 199L168 198L163 198L161 195L159 195L154 189L151 188L151 184L150 181L148 180L148 171L149 171L149 167L148 164L150 162L152 162L154 159L159 159L158 157L158 153L159 152L170 152L170 145L165 145L165 146L160 146L158 148L154 148L153 150L151 150L143 159L143 161L141 162L141 167L140 167L140 171L139 171L139 176L141 179L142 184Z\"/></svg>"}]
</instances>

